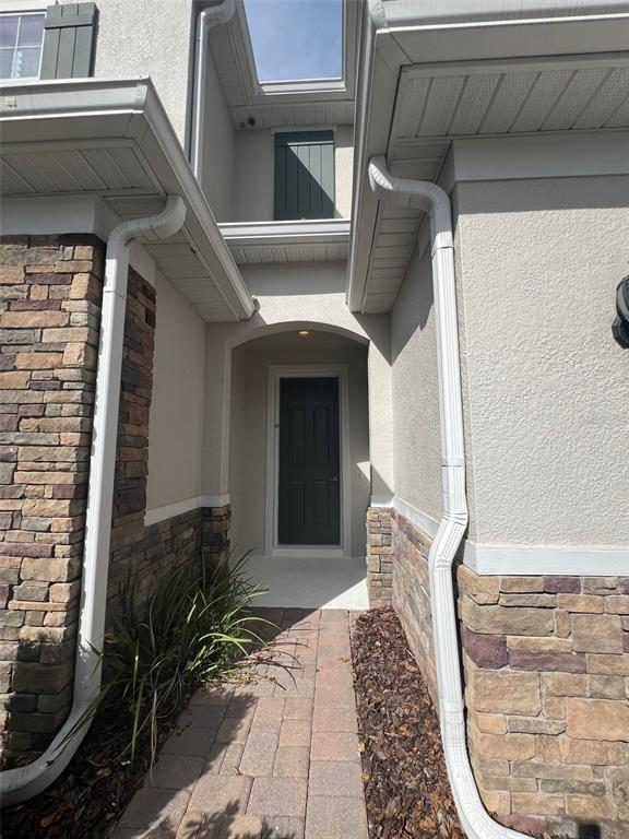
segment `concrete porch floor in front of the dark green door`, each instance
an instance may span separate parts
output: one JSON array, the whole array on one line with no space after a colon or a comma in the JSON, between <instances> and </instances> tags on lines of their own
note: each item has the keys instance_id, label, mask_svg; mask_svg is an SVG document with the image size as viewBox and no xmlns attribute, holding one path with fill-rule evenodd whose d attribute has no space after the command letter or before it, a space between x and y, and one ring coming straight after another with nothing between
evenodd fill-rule
<instances>
[{"instance_id":1,"label":"concrete porch floor in front of the dark green door","mask_svg":"<svg viewBox=\"0 0 629 839\"><path fill-rule=\"evenodd\" d=\"M369 608L367 564L360 557L257 556L247 560L251 579L265 594L256 606L300 608Z\"/></svg>"}]
</instances>

